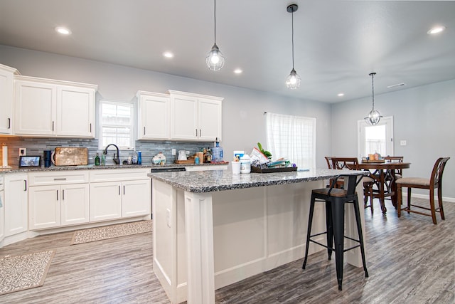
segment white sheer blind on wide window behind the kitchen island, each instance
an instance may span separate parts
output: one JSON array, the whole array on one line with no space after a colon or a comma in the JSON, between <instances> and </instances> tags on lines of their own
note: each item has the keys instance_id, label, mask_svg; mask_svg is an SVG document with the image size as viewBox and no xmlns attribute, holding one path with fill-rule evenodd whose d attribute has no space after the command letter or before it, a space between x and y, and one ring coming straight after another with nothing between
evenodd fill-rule
<instances>
[{"instance_id":1,"label":"white sheer blind on wide window behind the kitchen island","mask_svg":"<svg viewBox=\"0 0 455 304\"><path fill-rule=\"evenodd\" d=\"M316 167L316 118L267 112L267 149L300 169Z\"/></svg>"}]
</instances>

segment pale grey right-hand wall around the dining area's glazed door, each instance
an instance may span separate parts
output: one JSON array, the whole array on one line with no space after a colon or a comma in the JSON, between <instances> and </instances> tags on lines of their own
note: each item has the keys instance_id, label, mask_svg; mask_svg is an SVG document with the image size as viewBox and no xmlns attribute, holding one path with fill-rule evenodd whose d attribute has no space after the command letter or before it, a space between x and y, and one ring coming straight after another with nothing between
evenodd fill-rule
<instances>
[{"instance_id":1,"label":"pale grey right-hand wall around the dining area's glazed door","mask_svg":"<svg viewBox=\"0 0 455 304\"><path fill-rule=\"evenodd\" d=\"M405 177L429 178L436 159L451 157L442 192L455 199L455 80L375 95L375 108L384 116L393 116L395 155L411 162L410 169L403 172ZM357 121L370 110L371 98L332 105L332 155L357 154ZM400 146L400 140L407 145Z\"/></svg>"}]
</instances>

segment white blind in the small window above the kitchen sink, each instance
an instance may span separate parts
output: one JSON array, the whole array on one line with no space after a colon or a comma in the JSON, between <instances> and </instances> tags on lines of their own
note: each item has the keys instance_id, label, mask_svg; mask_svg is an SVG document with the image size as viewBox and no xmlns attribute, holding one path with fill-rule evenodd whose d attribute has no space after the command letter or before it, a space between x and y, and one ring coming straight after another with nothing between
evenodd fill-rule
<instances>
[{"instance_id":1,"label":"white blind in the small window above the kitchen sink","mask_svg":"<svg viewBox=\"0 0 455 304\"><path fill-rule=\"evenodd\" d=\"M100 100L100 149L109 144L120 150L133 148L133 112L131 103Z\"/></svg>"}]
</instances>

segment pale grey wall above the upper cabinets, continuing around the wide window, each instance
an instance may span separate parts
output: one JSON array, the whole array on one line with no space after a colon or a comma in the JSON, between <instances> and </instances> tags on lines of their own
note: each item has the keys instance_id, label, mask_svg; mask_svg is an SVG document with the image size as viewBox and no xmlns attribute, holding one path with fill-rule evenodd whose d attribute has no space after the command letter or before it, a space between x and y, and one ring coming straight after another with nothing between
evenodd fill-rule
<instances>
[{"instance_id":1,"label":"pale grey wall above the upper cabinets, continuing around the wide window","mask_svg":"<svg viewBox=\"0 0 455 304\"><path fill-rule=\"evenodd\" d=\"M97 84L98 98L108 100L132 100L137 90L167 93L169 89L223 97L220 145L228 161L234 150L251 152L257 142L265 144L264 112L316 117L316 165L325 167L323 156L331 154L331 105L327 103L10 46L0 45L0 63L22 75Z\"/></svg>"}]
</instances>

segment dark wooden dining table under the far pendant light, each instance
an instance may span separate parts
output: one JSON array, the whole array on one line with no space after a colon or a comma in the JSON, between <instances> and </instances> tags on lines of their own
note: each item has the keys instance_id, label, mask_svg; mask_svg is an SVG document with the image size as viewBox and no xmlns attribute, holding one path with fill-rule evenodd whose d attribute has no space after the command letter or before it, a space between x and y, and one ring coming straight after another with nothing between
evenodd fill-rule
<instances>
[{"instance_id":1,"label":"dark wooden dining table under the far pendant light","mask_svg":"<svg viewBox=\"0 0 455 304\"><path fill-rule=\"evenodd\" d=\"M388 162L384 160L361 162L358 169L370 171L370 177L378 187L378 197L383 214L387 212L385 198L390 197L392 205L397 208L397 177L395 170L408 169L410 162Z\"/></svg>"}]
</instances>

